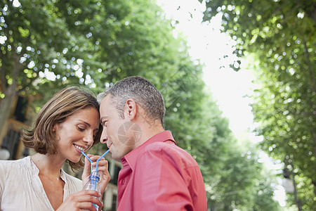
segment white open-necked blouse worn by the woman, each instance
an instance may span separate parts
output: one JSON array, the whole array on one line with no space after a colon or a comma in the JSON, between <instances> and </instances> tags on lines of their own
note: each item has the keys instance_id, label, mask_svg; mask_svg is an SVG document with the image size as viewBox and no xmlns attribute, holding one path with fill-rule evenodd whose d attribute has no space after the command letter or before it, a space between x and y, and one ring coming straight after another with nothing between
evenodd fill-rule
<instances>
[{"instance_id":1,"label":"white open-necked blouse worn by the woman","mask_svg":"<svg viewBox=\"0 0 316 211\"><path fill-rule=\"evenodd\" d=\"M82 190L82 181L63 170L64 200ZM20 160L0 160L0 210L54 210L39 179L39 169L31 157Z\"/></svg>"}]
</instances>

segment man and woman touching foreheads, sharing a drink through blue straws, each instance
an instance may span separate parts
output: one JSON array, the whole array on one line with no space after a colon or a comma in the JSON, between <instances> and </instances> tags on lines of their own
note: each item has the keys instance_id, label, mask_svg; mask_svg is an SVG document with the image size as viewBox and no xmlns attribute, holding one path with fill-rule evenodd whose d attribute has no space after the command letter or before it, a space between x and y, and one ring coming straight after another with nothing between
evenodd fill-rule
<instances>
[{"instance_id":1,"label":"man and woman touching foreheads, sharing a drink through blue straws","mask_svg":"<svg viewBox=\"0 0 316 211\"><path fill-rule=\"evenodd\" d=\"M82 151L106 143L122 163L117 210L206 210L197 162L164 129L162 94L143 77L127 77L97 99L76 87L62 89L41 109L22 141L35 153L0 160L0 210L95 210L96 191L82 191L90 162ZM88 155L96 166L98 155ZM66 174L84 166L82 181ZM107 160L98 163L101 196L110 181ZM93 197L96 196L96 197Z\"/></svg>"}]
</instances>

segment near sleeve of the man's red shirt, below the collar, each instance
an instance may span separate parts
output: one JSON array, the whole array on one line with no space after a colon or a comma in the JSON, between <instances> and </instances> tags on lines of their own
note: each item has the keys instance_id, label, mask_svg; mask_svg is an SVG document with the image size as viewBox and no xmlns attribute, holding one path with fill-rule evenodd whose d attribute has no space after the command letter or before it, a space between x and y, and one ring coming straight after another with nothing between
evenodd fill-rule
<instances>
[{"instance_id":1,"label":"near sleeve of the man's red shirt, below the collar","mask_svg":"<svg viewBox=\"0 0 316 211\"><path fill-rule=\"evenodd\" d=\"M183 160L168 148L151 148L135 169L133 210L193 210Z\"/></svg>"}]
</instances>

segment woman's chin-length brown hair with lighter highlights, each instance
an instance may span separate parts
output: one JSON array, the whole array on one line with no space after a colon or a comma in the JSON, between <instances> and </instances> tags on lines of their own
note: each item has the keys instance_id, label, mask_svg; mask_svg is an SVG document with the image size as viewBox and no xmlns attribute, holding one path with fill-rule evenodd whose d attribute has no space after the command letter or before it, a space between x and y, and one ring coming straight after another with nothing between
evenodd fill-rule
<instances>
[{"instance_id":1,"label":"woman's chin-length brown hair with lighter highlights","mask_svg":"<svg viewBox=\"0 0 316 211\"><path fill-rule=\"evenodd\" d=\"M53 132L55 124L65 122L66 118L84 108L96 108L99 113L99 103L96 97L78 87L68 87L58 91L37 115L33 129L23 129L21 139L28 148L37 153L55 155L58 153L58 139ZM93 146L100 141L102 127L99 125L98 134L93 139ZM72 170L84 166L84 158L79 162L69 162Z\"/></svg>"}]
</instances>

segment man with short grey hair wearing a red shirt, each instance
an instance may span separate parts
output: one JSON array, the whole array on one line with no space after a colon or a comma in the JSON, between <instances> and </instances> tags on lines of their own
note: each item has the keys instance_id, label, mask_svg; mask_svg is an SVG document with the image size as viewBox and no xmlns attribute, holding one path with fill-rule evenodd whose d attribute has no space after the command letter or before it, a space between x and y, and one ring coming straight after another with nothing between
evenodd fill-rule
<instances>
[{"instance_id":1,"label":"man with short grey hair wearing a red shirt","mask_svg":"<svg viewBox=\"0 0 316 211\"><path fill-rule=\"evenodd\" d=\"M100 141L123 165L117 210L206 210L199 166L164 129L164 99L156 87L127 77L98 98Z\"/></svg>"}]
</instances>

